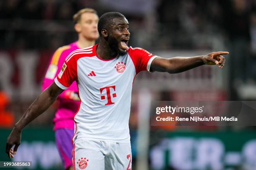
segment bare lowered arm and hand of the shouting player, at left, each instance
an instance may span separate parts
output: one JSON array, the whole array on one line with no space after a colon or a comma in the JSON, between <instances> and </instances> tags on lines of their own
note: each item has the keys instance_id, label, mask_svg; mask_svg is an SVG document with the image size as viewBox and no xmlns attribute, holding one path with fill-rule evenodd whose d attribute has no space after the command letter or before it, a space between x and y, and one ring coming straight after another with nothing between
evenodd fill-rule
<instances>
[{"instance_id":1,"label":"bare lowered arm and hand of the shouting player, at left","mask_svg":"<svg viewBox=\"0 0 256 170\"><path fill-rule=\"evenodd\" d=\"M62 91L63 90L59 88L55 82L53 82L28 107L24 115L14 125L12 132L7 138L6 153L8 154L9 158L13 158L13 155L16 153L18 146L20 145L21 132L23 128L25 128L29 122L46 111ZM13 145L15 145L14 150L12 150Z\"/></svg>"}]
</instances>

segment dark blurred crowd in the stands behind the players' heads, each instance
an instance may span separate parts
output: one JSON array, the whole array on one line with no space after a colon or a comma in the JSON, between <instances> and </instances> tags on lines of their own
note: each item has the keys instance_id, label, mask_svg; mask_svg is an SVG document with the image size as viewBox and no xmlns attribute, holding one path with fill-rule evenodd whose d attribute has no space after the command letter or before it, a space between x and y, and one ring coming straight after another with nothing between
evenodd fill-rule
<instances>
[{"instance_id":1,"label":"dark blurred crowd in the stands behind the players' heads","mask_svg":"<svg viewBox=\"0 0 256 170\"><path fill-rule=\"evenodd\" d=\"M134 10L134 4L141 12ZM76 39L72 16L83 7L95 8L99 16L108 11L123 13L131 23L134 46L224 49L228 40L240 39L251 42L256 52L255 0L1 0L0 48L67 44Z\"/></svg>"}]
</instances>

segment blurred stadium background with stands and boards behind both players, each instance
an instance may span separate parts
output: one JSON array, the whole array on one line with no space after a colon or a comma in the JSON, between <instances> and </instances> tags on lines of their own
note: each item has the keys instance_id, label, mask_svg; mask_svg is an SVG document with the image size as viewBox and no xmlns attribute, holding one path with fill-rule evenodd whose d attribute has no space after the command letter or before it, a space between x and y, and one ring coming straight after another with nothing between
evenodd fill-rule
<instances>
[{"instance_id":1,"label":"blurred stadium background with stands and boards behind both players","mask_svg":"<svg viewBox=\"0 0 256 170\"><path fill-rule=\"evenodd\" d=\"M49 59L77 40L83 7L123 13L129 45L162 57L230 51L223 69L141 72L133 85L133 170L256 170L256 131L247 127L150 126L151 100L255 100L256 0L0 0L0 160L14 123L41 92ZM23 131L14 160L60 170L52 119L57 103Z\"/></svg>"}]
</instances>

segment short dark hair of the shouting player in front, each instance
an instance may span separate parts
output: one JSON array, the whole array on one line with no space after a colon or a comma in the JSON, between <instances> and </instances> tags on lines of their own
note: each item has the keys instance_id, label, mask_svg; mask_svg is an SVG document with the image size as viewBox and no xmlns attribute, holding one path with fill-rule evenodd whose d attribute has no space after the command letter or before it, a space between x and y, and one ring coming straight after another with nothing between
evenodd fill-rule
<instances>
[{"instance_id":1,"label":"short dark hair of the shouting player in front","mask_svg":"<svg viewBox=\"0 0 256 170\"><path fill-rule=\"evenodd\" d=\"M107 29L108 26L112 23L114 18L125 18L125 16L118 12L109 12L100 16L100 19L98 22L98 32L100 36L101 36L101 30Z\"/></svg>"}]
</instances>

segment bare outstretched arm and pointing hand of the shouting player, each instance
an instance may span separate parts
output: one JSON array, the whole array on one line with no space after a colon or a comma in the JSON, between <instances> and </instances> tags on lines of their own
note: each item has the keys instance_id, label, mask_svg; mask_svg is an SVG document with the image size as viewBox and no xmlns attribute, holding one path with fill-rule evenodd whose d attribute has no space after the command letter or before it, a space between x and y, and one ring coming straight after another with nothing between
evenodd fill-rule
<instances>
[{"instance_id":1,"label":"bare outstretched arm and pointing hand of the shouting player","mask_svg":"<svg viewBox=\"0 0 256 170\"><path fill-rule=\"evenodd\" d=\"M156 57L151 63L150 70L158 72L179 73L205 64L218 65L218 67L223 68L225 64L225 57L222 55L227 54L229 54L229 52L220 51L211 52L207 55L195 57Z\"/></svg>"}]
</instances>

